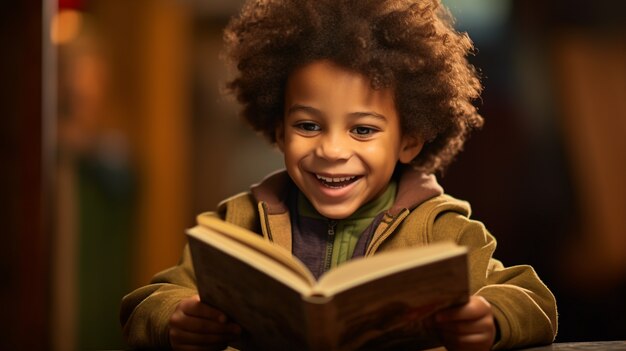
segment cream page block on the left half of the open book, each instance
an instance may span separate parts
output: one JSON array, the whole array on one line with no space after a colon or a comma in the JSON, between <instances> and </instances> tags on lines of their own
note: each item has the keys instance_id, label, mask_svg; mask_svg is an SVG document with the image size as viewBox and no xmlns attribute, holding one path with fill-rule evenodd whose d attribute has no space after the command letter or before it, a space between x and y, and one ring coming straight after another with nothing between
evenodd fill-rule
<instances>
[{"instance_id":1,"label":"cream page block on the left half of the open book","mask_svg":"<svg viewBox=\"0 0 626 351\"><path fill-rule=\"evenodd\" d=\"M299 275L311 286L315 284L316 279L313 277L313 274L311 274L308 268L306 268L303 263L294 257L291 252L283 249L282 247L262 239L256 233L216 217L200 215L197 219L200 226L217 231L254 251L270 257L293 271L295 274Z\"/></svg>"}]
</instances>

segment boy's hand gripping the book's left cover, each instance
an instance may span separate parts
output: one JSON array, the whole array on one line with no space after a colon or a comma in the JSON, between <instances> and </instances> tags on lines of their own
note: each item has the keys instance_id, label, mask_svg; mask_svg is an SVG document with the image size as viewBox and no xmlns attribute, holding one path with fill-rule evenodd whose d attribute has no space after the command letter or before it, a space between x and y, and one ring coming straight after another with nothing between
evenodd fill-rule
<instances>
[{"instance_id":1,"label":"boy's hand gripping the book's left cover","mask_svg":"<svg viewBox=\"0 0 626 351\"><path fill-rule=\"evenodd\" d=\"M224 313L200 302L198 295L176 306L169 327L174 350L223 350L241 333L239 325L227 323Z\"/></svg>"}]
</instances>

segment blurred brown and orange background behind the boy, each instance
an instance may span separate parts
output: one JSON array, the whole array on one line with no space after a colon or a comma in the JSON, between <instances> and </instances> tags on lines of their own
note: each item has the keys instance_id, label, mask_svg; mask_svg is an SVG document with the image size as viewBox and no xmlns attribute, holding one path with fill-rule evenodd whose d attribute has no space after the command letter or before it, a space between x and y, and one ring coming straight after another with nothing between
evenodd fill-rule
<instances>
[{"instance_id":1,"label":"blurred brown and orange background behind the boy","mask_svg":"<svg viewBox=\"0 0 626 351\"><path fill-rule=\"evenodd\" d=\"M550 286L557 341L626 339L626 2L444 3L486 123L441 183ZM0 349L124 348L122 296L177 262L197 213L281 167L221 93L241 4L4 4Z\"/></svg>"}]
</instances>

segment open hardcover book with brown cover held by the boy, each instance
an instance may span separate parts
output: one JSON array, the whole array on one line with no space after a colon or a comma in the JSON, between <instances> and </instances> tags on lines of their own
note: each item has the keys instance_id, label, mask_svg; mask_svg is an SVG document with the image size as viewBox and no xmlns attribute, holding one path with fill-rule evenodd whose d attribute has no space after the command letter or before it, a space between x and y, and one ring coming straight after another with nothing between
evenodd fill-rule
<instances>
[{"instance_id":1,"label":"open hardcover book with brown cover held by the boy","mask_svg":"<svg viewBox=\"0 0 626 351\"><path fill-rule=\"evenodd\" d=\"M201 300L255 349L432 347L427 317L468 300L467 250L454 243L354 259L316 281L287 250L218 218L199 216L187 236Z\"/></svg>"}]
</instances>

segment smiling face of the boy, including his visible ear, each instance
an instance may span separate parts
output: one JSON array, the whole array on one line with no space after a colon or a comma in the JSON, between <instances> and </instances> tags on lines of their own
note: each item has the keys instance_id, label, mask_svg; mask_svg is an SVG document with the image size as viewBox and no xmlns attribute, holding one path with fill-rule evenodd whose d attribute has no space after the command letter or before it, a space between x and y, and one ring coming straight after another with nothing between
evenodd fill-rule
<instances>
[{"instance_id":1,"label":"smiling face of the boy, including his visible ear","mask_svg":"<svg viewBox=\"0 0 626 351\"><path fill-rule=\"evenodd\" d=\"M323 216L342 219L381 194L422 143L402 135L391 89L330 61L296 70L276 131L287 172Z\"/></svg>"}]
</instances>

